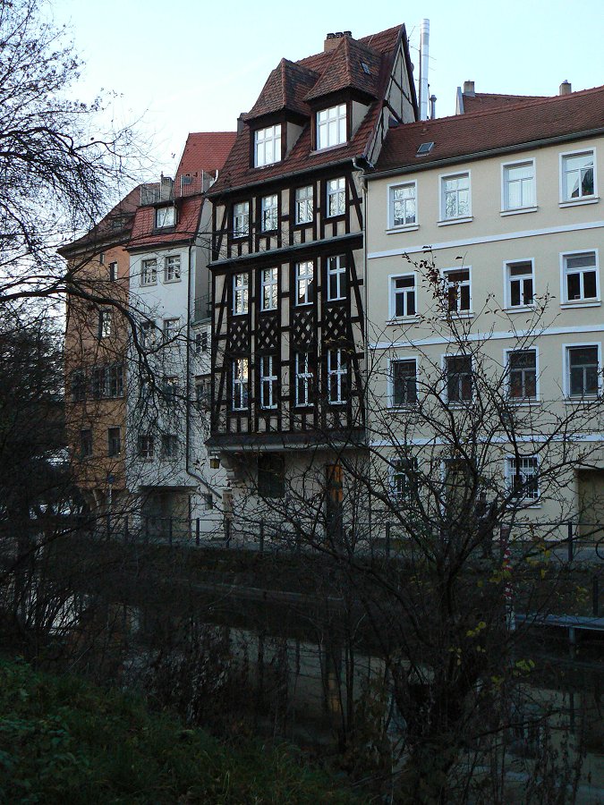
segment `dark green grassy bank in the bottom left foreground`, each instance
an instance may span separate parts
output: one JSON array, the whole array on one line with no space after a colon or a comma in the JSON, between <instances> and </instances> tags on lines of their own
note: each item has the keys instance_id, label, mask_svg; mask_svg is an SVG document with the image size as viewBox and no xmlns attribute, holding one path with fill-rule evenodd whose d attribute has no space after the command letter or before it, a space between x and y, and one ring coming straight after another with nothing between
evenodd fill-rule
<instances>
[{"instance_id":1,"label":"dark green grassy bank in the bottom left foreground","mask_svg":"<svg viewBox=\"0 0 604 805\"><path fill-rule=\"evenodd\" d=\"M0 661L0 802L360 802L292 748L226 745L143 699Z\"/></svg>"}]
</instances>

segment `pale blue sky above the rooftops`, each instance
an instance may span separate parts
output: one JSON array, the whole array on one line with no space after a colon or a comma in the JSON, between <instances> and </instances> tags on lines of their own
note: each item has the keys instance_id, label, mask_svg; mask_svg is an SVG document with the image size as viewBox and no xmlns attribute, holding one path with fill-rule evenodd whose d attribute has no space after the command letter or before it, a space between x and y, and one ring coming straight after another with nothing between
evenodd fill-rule
<instances>
[{"instance_id":1,"label":"pale blue sky above the rooftops","mask_svg":"<svg viewBox=\"0 0 604 805\"><path fill-rule=\"evenodd\" d=\"M279 59L322 50L328 31L366 36L404 22L419 74L419 30L430 20L430 92L455 112L455 89L554 95L604 84L604 0L51 0L86 62L80 95L122 95L119 123L144 114L157 172L174 173L188 131L234 130ZM604 111L603 111L604 114ZM172 155L175 155L174 157Z\"/></svg>"}]
</instances>

